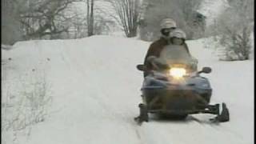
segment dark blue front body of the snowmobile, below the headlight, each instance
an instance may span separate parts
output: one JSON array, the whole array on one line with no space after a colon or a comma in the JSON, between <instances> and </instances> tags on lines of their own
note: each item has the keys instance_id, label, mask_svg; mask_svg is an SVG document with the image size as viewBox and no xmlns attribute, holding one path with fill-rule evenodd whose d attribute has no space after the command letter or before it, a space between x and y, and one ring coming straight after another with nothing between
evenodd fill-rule
<instances>
[{"instance_id":1,"label":"dark blue front body of the snowmobile, below the headlight","mask_svg":"<svg viewBox=\"0 0 256 144\"><path fill-rule=\"evenodd\" d=\"M205 109L209 104L212 94L208 79L199 75L172 83L168 78L150 74L141 90L143 102L152 113L198 113L198 108Z\"/></svg>"}]
</instances>

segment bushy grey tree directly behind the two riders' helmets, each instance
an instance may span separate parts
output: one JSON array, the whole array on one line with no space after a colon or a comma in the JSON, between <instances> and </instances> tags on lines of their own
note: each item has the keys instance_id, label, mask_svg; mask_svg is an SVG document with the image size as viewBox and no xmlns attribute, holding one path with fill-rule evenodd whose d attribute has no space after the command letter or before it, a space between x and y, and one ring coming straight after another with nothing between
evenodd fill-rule
<instances>
[{"instance_id":1,"label":"bushy grey tree directly behind the two riders' helmets","mask_svg":"<svg viewBox=\"0 0 256 144\"><path fill-rule=\"evenodd\" d=\"M140 36L152 41L160 36L160 22L173 18L178 27L186 32L187 38L200 38L205 18L197 12L202 0L144 0L143 17L140 20ZM201 35L198 35L200 34Z\"/></svg>"}]
</instances>

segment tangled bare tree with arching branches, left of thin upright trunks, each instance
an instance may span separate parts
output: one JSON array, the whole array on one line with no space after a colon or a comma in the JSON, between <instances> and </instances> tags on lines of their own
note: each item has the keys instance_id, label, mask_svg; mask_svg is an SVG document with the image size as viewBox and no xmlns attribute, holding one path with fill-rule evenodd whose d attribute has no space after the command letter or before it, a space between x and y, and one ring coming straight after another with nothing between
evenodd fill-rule
<instances>
[{"instance_id":1,"label":"tangled bare tree with arching branches, left of thin upright trunks","mask_svg":"<svg viewBox=\"0 0 256 144\"><path fill-rule=\"evenodd\" d=\"M43 0L29 1L26 10L21 13L21 23L26 30L26 38L42 38L50 35L56 38L67 32L69 26L63 25L70 21L62 12L76 0ZM65 23L66 24L66 23Z\"/></svg>"}]
</instances>

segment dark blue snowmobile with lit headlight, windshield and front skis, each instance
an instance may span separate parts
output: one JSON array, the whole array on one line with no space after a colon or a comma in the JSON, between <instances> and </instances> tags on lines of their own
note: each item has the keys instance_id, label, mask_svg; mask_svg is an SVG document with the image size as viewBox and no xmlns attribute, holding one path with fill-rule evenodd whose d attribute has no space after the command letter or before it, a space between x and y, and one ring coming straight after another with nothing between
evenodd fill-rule
<instances>
[{"instance_id":1,"label":"dark blue snowmobile with lit headlight, windshield and front skis","mask_svg":"<svg viewBox=\"0 0 256 144\"><path fill-rule=\"evenodd\" d=\"M148 122L149 114L168 115L170 118L185 119L188 114L215 114L214 122L228 122L229 110L226 103L210 105L212 88L207 78L210 67L198 71L198 60L178 46L165 46L158 58L147 58L154 70L145 65L137 69L147 72L142 84L142 103L138 105L136 122Z\"/></svg>"}]
</instances>

